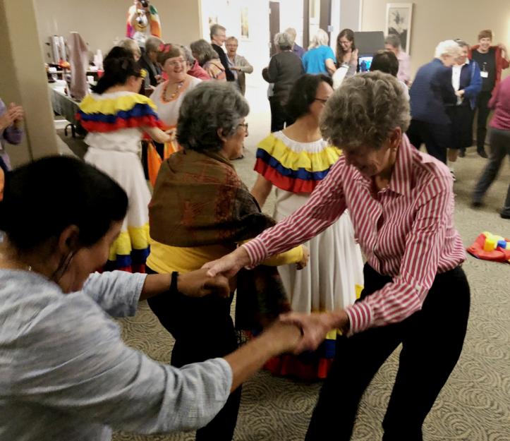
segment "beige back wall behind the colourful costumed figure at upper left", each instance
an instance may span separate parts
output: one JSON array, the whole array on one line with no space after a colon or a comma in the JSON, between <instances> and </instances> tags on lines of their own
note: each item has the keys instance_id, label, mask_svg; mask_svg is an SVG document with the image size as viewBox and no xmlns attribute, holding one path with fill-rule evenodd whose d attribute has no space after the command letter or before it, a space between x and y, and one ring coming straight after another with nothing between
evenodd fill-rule
<instances>
[{"instance_id":1,"label":"beige back wall behind the colourful costumed figure at upper left","mask_svg":"<svg viewBox=\"0 0 510 441\"><path fill-rule=\"evenodd\" d=\"M39 24L40 41L51 35L63 35L75 30L88 43L89 49L101 49L106 54L116 37L126 36L126 16L133 4L130 0L34 0ZM166 42L189 44L201 37L200 0L154 0L162 21L162 37Z\"/></svg>"}]
</instances>

